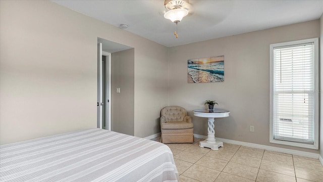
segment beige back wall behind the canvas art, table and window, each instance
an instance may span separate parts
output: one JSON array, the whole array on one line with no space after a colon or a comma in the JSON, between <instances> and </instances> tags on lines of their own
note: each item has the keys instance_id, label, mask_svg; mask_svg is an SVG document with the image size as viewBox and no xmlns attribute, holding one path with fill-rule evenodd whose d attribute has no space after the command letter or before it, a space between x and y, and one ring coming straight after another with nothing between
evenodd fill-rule
<instances>
[{"instance_id":1,"label":"beige back wall behind the canvas art, table and window","mask_svg":"<svg viewBox=\"0 0 323 182\"><path fill-rule=\"evenodd\" d=\"M216 99L217 108L231 111L230 117L214 122L217 137L318 153L269 143L270 44L313 37L319 37L318 20L170 48L169 104L183 106L193 116L205 100ZM188 59L221 55L224 82L187 83ZM194 133L207 135L207 119L193 116L193 123Z\"/></svg>"}]
</instances>

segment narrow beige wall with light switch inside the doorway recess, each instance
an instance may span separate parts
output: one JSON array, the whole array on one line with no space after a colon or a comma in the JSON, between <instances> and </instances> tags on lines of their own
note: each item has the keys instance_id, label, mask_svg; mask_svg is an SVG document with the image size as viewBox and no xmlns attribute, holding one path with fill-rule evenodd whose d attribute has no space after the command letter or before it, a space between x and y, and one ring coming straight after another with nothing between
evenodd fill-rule
<instances>
[{"instance_id":1,"label":"narrow beige wall with light switch inside the doorway recess","mask_svg":"<svg viewBox=\"0 0 323 182\"><path fill-rule=\"evenodd\" d=\"M134 135L134 54L134 49L129 49L111 56L111 128L130 135Z\"/></svg>"}]
</instances>

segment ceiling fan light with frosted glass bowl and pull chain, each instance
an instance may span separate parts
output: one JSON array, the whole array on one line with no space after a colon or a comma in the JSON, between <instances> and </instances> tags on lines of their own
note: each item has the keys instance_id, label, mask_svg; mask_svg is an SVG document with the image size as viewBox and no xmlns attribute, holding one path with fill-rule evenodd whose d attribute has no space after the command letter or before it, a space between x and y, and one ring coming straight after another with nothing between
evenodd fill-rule
<instances>
[{"instance_id":1,"label":"ceiling fan light with frosted glass bowl and pull chain","mask_svg":"<svg viewBox=\"0 0 323 182\"><path fill-rule=\"evenodd\" d=\"M192 11L192 6L189 4L188 0L165 0L164 6L167 10L164 17L176 23L174 34L176 38L178 38L177 24L188 15L189 11Z\"/></svg>"}]
</instances>

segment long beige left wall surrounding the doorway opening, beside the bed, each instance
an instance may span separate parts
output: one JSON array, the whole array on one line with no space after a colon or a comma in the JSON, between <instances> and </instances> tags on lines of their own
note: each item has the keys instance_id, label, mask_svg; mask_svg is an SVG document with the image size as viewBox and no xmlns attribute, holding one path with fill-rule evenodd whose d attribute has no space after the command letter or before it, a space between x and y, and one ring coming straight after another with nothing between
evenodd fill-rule
<instances>
[{"instance_id":1,"label":"long beige left wall surrounding the doorway opening, beside the bed","mask_svg":"<svg viewBox=\"0 0 323 182\"><path fill-rule=\"evenodd\" d=\"M166 47L49 1L0 3L0 144L96 127L97 37L135 49L134 132L158 132Z\"/></svg>"}]
</instances>

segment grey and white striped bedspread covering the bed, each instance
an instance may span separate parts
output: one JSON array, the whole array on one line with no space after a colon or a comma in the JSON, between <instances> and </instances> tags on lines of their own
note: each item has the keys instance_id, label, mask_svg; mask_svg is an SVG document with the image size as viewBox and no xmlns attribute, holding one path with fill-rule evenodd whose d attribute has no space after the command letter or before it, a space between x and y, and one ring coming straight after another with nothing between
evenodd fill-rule
<instances>
[{"instance_id":1,"label":"grey and white striped bedspread covering the bed","mask_svg":"<svg viewBox=\"0 0 323 182\"><path fill-rule=\"evenodd\" d=\"M178 181L168 146L85 129L0 146L0 181Z\"/></svg>"}]
</instances>

